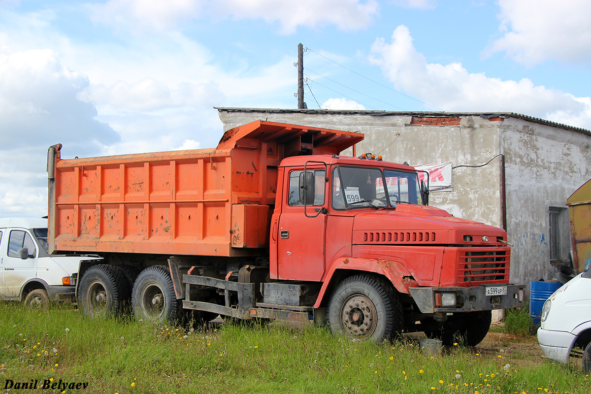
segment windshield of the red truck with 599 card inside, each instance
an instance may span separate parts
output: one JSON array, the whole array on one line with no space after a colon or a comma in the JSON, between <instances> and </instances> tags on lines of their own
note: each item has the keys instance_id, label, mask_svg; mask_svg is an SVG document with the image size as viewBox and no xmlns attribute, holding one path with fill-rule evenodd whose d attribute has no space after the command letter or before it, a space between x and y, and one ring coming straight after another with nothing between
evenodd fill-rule
<instances>
[{"instance_id":1,"label":"windshield of the red truck with 599 card inside","mask_svg":"<svg viewBox=\"0 0 591 394\"><path fill-rule=\"evenodd\" d=\"M337 166L332 174L334 209L422 204L415 172Z\"/></svg>"}]
</instances>

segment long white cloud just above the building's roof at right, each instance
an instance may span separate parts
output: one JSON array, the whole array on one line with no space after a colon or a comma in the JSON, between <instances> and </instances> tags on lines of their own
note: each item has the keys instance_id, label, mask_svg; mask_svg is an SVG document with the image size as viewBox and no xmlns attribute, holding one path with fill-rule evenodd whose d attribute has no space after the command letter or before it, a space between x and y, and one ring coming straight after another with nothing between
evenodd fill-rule
<instances>
[{"instance_id":1,"label":"long white cloud just above the building's roof at right","mask_svg":"<svg viewBox=\"0 0 591 394\"><path fill-rule=\"evenodd\" d=\"M391 43L378 38L371 53L370 61L381 67L397 89L444 110L521 112L551 121L557 114L570 114L574 117L567 124L591 128L589 115L584 115L589 97L535 86L527 78L501 80L469 73L460 63L427 63L404 25L394 30Z\"/></svg>"}]
</instances>

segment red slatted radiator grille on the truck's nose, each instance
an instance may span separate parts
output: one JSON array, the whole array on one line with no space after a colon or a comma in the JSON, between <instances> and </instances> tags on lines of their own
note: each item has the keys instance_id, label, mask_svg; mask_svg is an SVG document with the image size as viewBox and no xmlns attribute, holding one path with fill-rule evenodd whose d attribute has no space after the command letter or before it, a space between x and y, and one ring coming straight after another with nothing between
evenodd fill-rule
<instances>
[{"instance_id":1,"label":"red slatted radiator grille on the truck's nose","mask_svg":"<svg viewBox=\"0 0 591 394\"><path fill-rule=\"evenodd\" d=\"M478 250L460 253L460 282L508 282L509 256L505 250Z\"/></svg>"}]
</instances>

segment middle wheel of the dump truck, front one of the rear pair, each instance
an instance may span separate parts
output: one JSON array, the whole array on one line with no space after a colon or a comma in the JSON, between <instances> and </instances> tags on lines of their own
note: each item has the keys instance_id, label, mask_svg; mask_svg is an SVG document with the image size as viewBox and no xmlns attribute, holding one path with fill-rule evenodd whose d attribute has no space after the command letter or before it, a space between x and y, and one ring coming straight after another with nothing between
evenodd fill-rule
<instances>
[{"instance_id":1,"label":"middle wheel of the dump truck, front one of the rear pair","mask_svg":"<svg viewBox=\"0 0 591 394\"><path fill-rule=\"evenodd\" d=\"M174 292L168 269L154 265L140 272L131 296L134 314L140 319L163 323L183 320L183 309Z\"/></svg>"}]
</instances>

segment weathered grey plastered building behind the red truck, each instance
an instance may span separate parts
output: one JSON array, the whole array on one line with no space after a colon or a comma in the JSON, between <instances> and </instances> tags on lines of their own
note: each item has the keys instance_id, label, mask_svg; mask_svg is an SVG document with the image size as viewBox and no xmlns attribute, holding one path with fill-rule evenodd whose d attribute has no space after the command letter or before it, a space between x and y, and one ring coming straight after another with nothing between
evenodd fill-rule
<instances>
[{"instance_id":1,"label":"weathered grey plastered building behind the red truck","mask_svg":"<svg viewBox=\"0 0 591 394\"><path fill-rule=\"evenodd\" d=\"M355 147L358 155L372 152L411 165L447 163L450 184L431 192L430 205L504 227L514 244L512 282L556 278L557 266L569 262L565 204L591 178L588 130L516 113L217 110L224 131L258 119L359 131L365 139Z\"/></svg>"}]
</instances>

